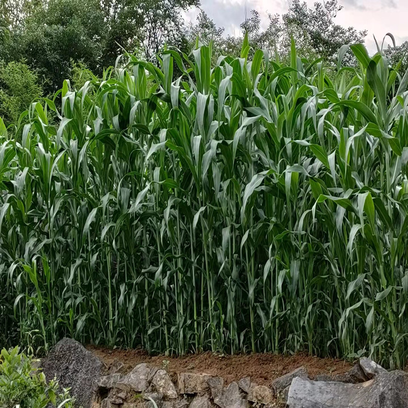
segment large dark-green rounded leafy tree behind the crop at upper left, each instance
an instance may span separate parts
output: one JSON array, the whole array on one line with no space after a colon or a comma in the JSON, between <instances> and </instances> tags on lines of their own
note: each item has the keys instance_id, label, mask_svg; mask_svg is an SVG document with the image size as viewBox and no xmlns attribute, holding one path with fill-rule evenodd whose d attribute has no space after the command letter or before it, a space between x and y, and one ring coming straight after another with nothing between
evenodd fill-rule
<instances>
[{"instance_id":1,"label":"large dark-green rounded leafy tree behind the crop at upper left","mask_svg":"<svg viewBox=\"0 0 408 408\"><path fill-rule=\"evenodd\" d=\"M16 42L21 57L38 70L46 91L52 92L69 77L71 60L101 71L105 28L97 0L49 0L25 20Z\"/></svg>"}]
</instances>

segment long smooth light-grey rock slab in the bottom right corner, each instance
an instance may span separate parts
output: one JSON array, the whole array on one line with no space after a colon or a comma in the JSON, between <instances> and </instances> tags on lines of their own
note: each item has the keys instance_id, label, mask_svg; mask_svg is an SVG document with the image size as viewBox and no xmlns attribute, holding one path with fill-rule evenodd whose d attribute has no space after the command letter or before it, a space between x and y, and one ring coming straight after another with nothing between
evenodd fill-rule
<instances>
[{"instance_id":1,"label":"long smooth light-grey rock slab in the bottom right corner","mask_svg":"<svg viewBox=\"0 0 408 408\"><path fill-rule=\"evenodd\" d=\"M297 377L289 388L289 408L406 408L408 375L380 372L361 384L311 381Z\"/></svg>"}]
</instances>

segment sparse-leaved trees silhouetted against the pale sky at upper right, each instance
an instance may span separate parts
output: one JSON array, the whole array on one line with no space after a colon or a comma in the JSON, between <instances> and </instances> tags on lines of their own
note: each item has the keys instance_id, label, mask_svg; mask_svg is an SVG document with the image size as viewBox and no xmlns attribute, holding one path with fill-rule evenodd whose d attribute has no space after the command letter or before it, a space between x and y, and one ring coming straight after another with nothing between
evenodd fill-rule
<instances>
[{"instance_id":1,"label":"sparse-leaved trees silhouetted against the pale sky at upper right","mask_svg":"<svg viewBox=\"0 0 408 408\"><path fill-rule=\"evenodd\" d=\"M338 0L327 0L315 3L314 8L307 3L293 0L287 13L282 17L269 14L269 24L266 30L261 28L261 15L252 10L240 27L242 34L248 33L249 43L253 48L267 49L273 53L278 49L281 56L289 54L291 38L295 39L298 55L305 58L323 57L326 61L333 60L343 44L364 42L366 31L356 31L352 27L344 28L335 23L337 13L342 10ZM202 12L203 13L203 12ZM239 55L242 39L228 36L222 38L213 20L203 13L199 14L197 22L190 24L187 37L192 40L202 30L203 41L208 39L208 33L214 33L215 52L218 54ZM222 34L222 31L221 31ZM346 55L345 62L349 62Z\"/></svg>"}]
</instances>

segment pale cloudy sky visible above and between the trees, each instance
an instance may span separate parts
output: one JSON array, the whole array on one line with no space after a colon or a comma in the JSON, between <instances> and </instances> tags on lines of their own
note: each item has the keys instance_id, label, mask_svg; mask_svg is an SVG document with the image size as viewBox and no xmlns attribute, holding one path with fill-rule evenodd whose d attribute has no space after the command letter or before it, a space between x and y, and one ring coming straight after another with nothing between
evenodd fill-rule
<instances>
[{"instance_id":1,"label":"pale cloudy sky visible above and between the trees","mask_svg":"<svg viewBox=\"0 0 408 408\"><path fill-rule=\"evenodd\" d=\"M309 5L318 0L307 0ZM321 0L320 0L321 1ZM266 26L267 15L283 14L288 10L290 0L201 0L201 8L226 34L239 35L239 24L245 19L245 9L256 9L261 13ZM336 22L357 30L368 30L366 46L375 52L373 35L378 42L388 32L395 37L397 44L408 40L408 0L339 0L344 9L338 14ZM187 19L195 19L196 10L187 14ZM387 40L386 40L387 42Z\"/></svg>"}]
</instances>

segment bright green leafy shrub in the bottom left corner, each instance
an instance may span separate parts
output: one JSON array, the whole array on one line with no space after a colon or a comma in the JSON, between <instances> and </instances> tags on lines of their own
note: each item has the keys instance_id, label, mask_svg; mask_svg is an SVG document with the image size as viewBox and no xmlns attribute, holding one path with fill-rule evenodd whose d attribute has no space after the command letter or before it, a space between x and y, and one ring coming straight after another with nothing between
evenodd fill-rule
<instances>
[{"instance_id":1,"label":"bright green leafy shrub in the bottom left corner","mask_svg":"<svg viewBox=\"0 0 408 408\"><path fill-rule=\"evenodd\" d=\"M0 406L2 408L72 408L69 390L59 390L56 379L46 382L45 375L36 367L30 355L15 347L3 349L0 354Z\"/></svg>"}]
</instances>

